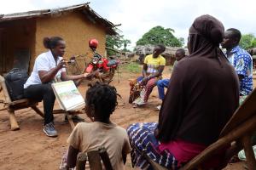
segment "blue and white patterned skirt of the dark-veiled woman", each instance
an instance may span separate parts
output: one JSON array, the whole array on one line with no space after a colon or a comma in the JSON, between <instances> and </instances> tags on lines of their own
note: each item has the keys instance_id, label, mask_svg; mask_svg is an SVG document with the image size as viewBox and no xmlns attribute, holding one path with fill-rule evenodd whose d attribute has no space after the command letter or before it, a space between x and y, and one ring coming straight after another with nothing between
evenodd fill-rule
<instances>
[{"instance_id":1,"label":"blue and white patterned skirt of the dark-veiled woman","mask_svg":"<svg viewBox=\"0 0 256 170\"><path fill-rule=\"evenodd\" d=\"M177 161L172 153L168 150L160 151L158 146L160 142L154 137L154 129L157 127L156 122L135 123L127 128L129 139L131 142L131 163L132 166L141 169L153 169L143 156L147 156L163 167L177 168Z\"/></svg>"}]
</instances>

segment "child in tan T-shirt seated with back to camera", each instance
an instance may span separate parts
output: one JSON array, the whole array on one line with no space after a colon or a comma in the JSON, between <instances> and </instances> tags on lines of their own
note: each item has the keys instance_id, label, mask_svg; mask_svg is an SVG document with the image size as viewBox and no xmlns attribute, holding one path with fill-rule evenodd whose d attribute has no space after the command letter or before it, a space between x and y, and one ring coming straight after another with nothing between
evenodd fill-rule
<instances>
[{"instance_id":1,"label":"child in tan T-shirt seated with back to camera","mask_svg":"<svg viewBox=\"0 0 256 170\"><path fill-rule=\"evenodd\" d=\"M104 146L113 169L125 169L126 155L131 152L128 135L124 128L109 120L117 105L116 89L96 82L87 90L85 103L85 112L93 122L78 123L67 139L67 167L75 167L79 152Z\"/></svg>"}]
</instances>

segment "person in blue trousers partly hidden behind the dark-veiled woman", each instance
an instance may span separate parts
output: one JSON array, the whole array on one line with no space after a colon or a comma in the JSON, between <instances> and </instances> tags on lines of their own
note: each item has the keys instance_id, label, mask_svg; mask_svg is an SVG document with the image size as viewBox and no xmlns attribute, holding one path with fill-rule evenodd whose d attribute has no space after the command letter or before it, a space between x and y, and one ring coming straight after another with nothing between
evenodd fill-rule
<instances>
[{"instance_id":1,"label":"person in blue trousers partly hidden behind the dark-veiled woman","mask_svg":"<svg viewBox=\"0 0 256 170\"><path fill-rule=\"evenodd\" d=\"M173 64L173 68L175 67L175 65L177 65L177 62L180 59L183 59L183 57L185 57L185 50L183 48L178 48L177 51L175 52L175 62ZM158 95L159 95L159 99L163 100L165 98L165 88L168 88L169 82L171 79L166 78L166 79L162 79L156 82L157 88L158 88ZM161 105L158 105L156 107L157 111L160 111Z\"/></svg>"}]
</instances>

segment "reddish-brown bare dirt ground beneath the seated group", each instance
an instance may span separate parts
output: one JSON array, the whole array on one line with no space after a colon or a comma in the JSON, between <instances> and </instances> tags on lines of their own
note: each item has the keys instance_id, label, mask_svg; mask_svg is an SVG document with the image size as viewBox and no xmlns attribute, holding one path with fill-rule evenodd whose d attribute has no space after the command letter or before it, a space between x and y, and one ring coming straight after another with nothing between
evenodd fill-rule
<instances>
[{"instance_id":1,"label":"reddish-brown bare dirt ground beneath the seated group","mask_svg":"<svg viewBox=\"0 0 256 170\"><path fill-rule=\"evenodd\" d=\"M166 69L167 70L167 69ZM165 76L170 76L166 71ZM158 111L154 108L160 104L158 99L157 89L154 88L151 94L148 105L134 109L128 103L129 82L128 79L137 77L139 73L128 73L121 71L116 74L112 85L114 85L118 93L123 97L119 99L119 105L111 116L111 120L121 127L127 127L133 122L156 122L158 120ZM85 94L87 87L82 84L79 87L81 94ZM3 95L0 96L0 99ZM55 103L55 108L58 104ZM42 103L39 109L43 110ZM61 156L67 150L67 137L72 132L68 123L64 122L63 115L55 115L55 128L59 133L57 138L46 137L42 131L43 119L31 109L24 109L15 113L17 121L20 125L20 130L10 131L9 116L7 111L0 112L0 169L58 169ZM82 115L86 121L88 117ZM130 157L130 156L128 156ZM236 163L226 167L226 170L243 169L243 163ZM133 169L131 167L131 159L125 165L125 169Z\"/></svg>"}]
</instances>

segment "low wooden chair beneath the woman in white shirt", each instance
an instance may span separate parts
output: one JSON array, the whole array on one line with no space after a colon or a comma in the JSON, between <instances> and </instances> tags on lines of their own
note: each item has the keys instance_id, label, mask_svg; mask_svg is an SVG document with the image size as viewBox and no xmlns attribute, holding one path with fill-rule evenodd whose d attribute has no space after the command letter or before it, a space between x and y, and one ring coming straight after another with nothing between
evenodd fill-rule
<instances>
[{"instance_id":1,"label":"low wooden chair beneath the woman in white shirt","mask_svg":"<svg viewBox=\"0 0 256 170\"><path fill-rule=\"evenodd\" d=\"M18 125L18 122L16 121L15 117L15 111L18 111L20 109L25 109L28 107L31 107L33 111L36 111L36 113L39 116L42 116L44 118L44 113L38 109L38 101L34 101L31 99L19 99L12 101L9 97L9 92L7 90L4 77L0 76L0 92L3 90L4 100L0 101L0 103L3 103L3 108L0 109L0 111L7 110L9 113L9 122L11 126L11 130L19 130L20 126ZM72 128L75 127L73 120L71 118L72 115L75 114L81 114L82 111L64 111L64 110L55 110L53 111L53 114L66 114L67 120Z\"/></svg>"}]
</instances>

